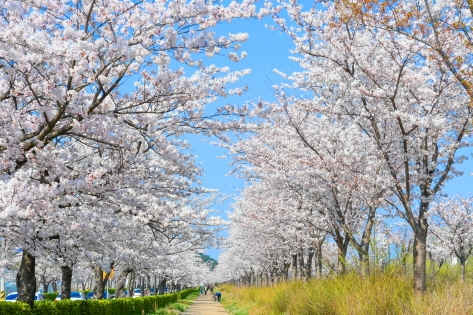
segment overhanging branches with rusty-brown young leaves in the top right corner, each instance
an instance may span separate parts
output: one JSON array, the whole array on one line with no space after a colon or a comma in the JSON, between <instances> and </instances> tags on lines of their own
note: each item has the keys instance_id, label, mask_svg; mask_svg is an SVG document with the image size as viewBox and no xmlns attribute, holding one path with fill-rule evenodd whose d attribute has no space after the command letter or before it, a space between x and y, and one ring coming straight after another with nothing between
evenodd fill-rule
<instances>
[{"instance_id":1,"label":"overhanging branches with rusty-brown young leaves in the top right corner","mask_svg":"<svg viewBox=\"0 0 473 315\"><path fill-rule=\"evenodd\" d=\"M470 1L339 1L344 22L388 30L423 46L473 100L473 5Z\"/></svg>"}]
</instances>

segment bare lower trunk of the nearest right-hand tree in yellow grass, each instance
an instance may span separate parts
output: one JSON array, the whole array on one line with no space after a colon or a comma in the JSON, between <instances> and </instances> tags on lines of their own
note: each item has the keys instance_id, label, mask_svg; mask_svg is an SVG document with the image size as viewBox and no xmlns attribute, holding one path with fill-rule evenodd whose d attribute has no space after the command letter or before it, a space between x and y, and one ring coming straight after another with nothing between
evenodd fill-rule
<instances>
[{"instance_id":1,"label":"bare lower trunk of the nearest right-hand tree in yellow grass","mask_svg":"<svg viewBox=\"0 0 473 315\"><path fill-rule=\"evenodd\" d=\"M427 221L426 219L424 219ZM427 225L427 222L425 222ZM419 225L414 235L414 289L418 293L426 290L427 228Z\"/></svg>"}]
</instances>

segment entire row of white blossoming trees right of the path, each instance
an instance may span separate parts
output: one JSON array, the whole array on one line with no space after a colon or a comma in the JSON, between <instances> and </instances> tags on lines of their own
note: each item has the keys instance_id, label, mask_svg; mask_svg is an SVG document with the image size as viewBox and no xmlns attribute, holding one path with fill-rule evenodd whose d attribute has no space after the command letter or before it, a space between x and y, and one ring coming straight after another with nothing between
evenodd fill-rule
<instances>
[{"instance_id":1,"label":"entire row of white blossoming trees right of the path","mask_svg":"<svg viewBox=\"0 0 473 315\"><path fill-rule=\"evenodd\" d=\"M471 141L471 1L282 5L290 19L274 28L301 70L281 73L278 102L228 144L248 185L222 279L344 272L353 257L365 274L375 243L412 253L425 291L429 255L464 266L472 249L471 199L442 199Z\"/></svg>"}]
</instances>

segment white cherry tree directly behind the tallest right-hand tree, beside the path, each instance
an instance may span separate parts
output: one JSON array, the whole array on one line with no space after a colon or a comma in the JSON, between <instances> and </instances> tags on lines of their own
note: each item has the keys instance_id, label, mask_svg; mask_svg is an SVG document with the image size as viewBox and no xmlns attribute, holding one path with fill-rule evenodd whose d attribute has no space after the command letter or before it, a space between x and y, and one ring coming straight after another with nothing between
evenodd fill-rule
<instances>
[{"instance_id":1,"label":"white cherry tree directly behind the tallest right-hand tree, beside the path","mask_svg":"<svg viewBox=\"0 0 473 315\"><path fill-rule=\"evenodd\" d=\"M361 273L367 273L376 210L389 193L369 139L343 122L314 114L307 103L271 110L254 137L232 147L236 162L251 165L241 167L243 176L271 181L280 194L292 191L286 198L300 204L292 207L290 222L330 234L339 248L340 272L351 244Z\"/></svg>"}]
</instances>

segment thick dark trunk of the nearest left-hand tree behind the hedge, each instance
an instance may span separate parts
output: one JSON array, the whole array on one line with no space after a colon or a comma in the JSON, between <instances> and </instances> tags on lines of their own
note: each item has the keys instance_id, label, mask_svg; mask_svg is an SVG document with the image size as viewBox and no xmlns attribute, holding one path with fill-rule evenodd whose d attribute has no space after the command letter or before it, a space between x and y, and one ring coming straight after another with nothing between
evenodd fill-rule
<instances>
[{"instance_id":1,"label":"thick dark trunk of the nearest left-hand tree behind the hedge","mask_svg":"<svg viewBox=\"0 0 473 315\"><path fill-rule=\"evenodd\" d=\"M36 257L23 250L20 269L16 275L18 301L28 303L31 309L34 308L34 295L36 293L35 268Z\"/></svg>"}]
</instances>

